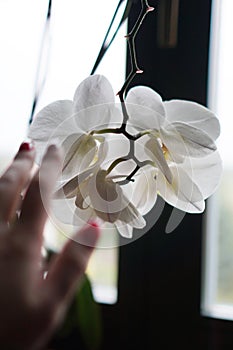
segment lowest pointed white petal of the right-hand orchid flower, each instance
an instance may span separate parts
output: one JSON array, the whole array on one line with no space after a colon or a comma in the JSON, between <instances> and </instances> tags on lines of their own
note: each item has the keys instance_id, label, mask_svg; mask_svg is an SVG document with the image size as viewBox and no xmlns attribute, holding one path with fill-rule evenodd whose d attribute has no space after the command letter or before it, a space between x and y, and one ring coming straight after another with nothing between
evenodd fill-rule
<instances>
[{"instance_id":1,"label":"lowest pointed white petal of the right-hand orchid flower","mask_svg":"<svg viewBox=\"0 0 233 350\"><path fill-rule=\"evenodd\" d=\"M200 213L205 208L203 195L194 183L192 178L179 164L170 167L173 175L173 182L170 185L162 173L157 176L158 194L172 206L189 212Z\"/></svg>"}]
</instances>

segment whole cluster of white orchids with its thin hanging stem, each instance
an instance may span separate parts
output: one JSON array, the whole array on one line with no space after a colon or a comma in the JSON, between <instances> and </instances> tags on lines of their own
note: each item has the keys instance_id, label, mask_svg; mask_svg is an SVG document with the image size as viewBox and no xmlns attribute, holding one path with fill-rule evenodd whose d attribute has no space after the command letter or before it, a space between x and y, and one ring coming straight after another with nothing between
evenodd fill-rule
<instances>
[{"instance_id":1,"label":"whole cluster of white orchids with its thin hanging stem","mask_svg":"<svg viewBox=\"0 0 233 350\"><path fill-rule=\"evenodd\" d=\"M151 10L146 6L142 17ZM138 28L128 37L134 39ZM129 43L134 52L134 41ZM38 163L48 144L64 151L54 194L57 218L78 227L97 219L128 238L134 228L146 226L144 216L158 195L184 212L203 212L222 171L214 113L191 101L163 101L146 86L131 88L125 97L128 83L141 72L136 59L132 62L119 103L108 79L92 75L73 100L43 108L29 129Z\"/></svg>"}]
</instances>

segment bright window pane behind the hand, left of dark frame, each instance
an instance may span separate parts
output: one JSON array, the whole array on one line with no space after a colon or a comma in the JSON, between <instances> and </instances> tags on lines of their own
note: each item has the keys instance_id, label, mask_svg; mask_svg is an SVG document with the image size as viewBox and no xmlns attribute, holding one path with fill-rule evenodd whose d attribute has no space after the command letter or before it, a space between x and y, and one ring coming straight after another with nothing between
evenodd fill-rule
<instances>
[{"instance_id":1,"label":"bright window pane behind the hand, left of dark frame","mask_svg":"<svg viewBox=\"0 0 233 350\"><path fill-rule=\"evenodd\" d=\"M5 168L26 137L41 53L39 79L45 79L45 83L36 111L54 100L72 99L77 85L92 70L118 2L54 1L47 47L42 51L49 1L0 2L0 170ZM123 10L124 6L116 18L117 24ZM97 71L108 77L116 93L125 79L125 33L126 25L123 25ZM46 241L54 248L64 240L60 236L57 241L57 235L56 229L48 223ZM114 240L115 237L110 246L116 246ZM116 301L117 263L117 248L98 250L94 254L88 273L98 301Z\"/></svg>"}]
</instances>

